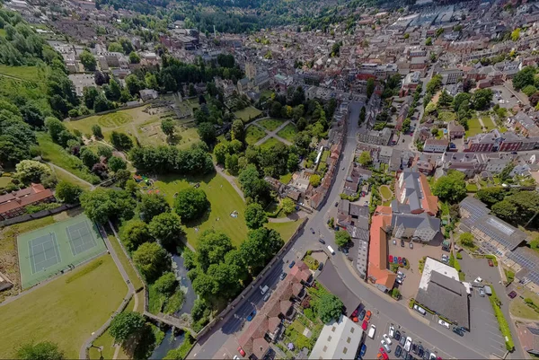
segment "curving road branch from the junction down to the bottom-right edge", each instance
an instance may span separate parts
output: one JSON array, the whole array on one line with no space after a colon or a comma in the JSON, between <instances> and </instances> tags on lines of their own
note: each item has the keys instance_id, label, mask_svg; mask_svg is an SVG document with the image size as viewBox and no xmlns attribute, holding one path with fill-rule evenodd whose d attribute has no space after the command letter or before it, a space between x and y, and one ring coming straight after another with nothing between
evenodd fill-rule
<instances>
[{"instance_id":1,"label":"curving road branch from the junction down to the bottom-right edge","mask_svg":"<svg viewBox=\"0 0 539 360\"><path fill-rule=\"evenodd\" d=\"M333 261L337 260L339 264L343 264L336 266L341 281L349 286L353 285L350 290L366 303L376 303L377 310L391 318L394 323L401 324L401 326L409 329L417 337L423 338L429 344L436 346L438 351L442 350L453 357L464 359L485 358L485 356L482 356L482 354L472 348L464 347L453 338L447 338L446 334L439 332L438 329L433 331L433 328L412 317L408 313L408 309L404 306L388 303L380 294L375 294L371 289L367 289L367 284L359 282L358 278L350 273L348 266L344 264L344 261L348 261L344 256L340 255L337 258L333 258ZM376 289L373 290L377 291Z\"/></svg>"}]
</instances>

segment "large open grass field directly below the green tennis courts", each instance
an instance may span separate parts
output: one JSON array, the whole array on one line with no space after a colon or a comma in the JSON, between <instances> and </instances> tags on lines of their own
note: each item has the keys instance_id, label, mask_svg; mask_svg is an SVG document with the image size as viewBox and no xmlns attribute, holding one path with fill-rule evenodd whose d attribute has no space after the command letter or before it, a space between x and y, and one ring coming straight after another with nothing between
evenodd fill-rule
<instances>
[{"instance_id":1,"label":"large open grass field directly below the green tennis courts","mask_svg":"<svg viewBox=\"0 0 539 360\"><path fill-rule=\"evenodd\" d=\"M110 255L103 255L0 307L0 357L13 358L31 340L49 340L66 358L77 358L84 340L110 318L127 290Z\"/></svg>"}]
</instances>

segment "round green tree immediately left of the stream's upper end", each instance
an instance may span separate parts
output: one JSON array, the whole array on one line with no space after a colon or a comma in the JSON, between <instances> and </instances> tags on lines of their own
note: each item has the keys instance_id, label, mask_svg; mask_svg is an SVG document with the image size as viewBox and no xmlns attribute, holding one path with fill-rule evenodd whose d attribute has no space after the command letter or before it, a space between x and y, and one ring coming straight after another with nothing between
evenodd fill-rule
<instances>
[{"instance_id":1,"label":"round green tree immediately left of the stream's upper end","mask_svg":"<svg viewBox=\"0 0 539 360\"><path fill-rule=\"evenodd\" d=\"M133 252L133 261L148 282L153 282L170 268L166 250L157 242L145 242Z\"/></svg>"}]
</instances>

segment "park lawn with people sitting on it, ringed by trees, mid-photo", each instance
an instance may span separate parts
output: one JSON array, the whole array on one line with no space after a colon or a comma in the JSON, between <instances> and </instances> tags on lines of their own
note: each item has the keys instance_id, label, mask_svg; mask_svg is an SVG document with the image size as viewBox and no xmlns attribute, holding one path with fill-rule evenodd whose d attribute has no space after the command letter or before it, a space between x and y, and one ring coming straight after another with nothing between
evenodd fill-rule
<instances>
[{"instance_id":1,"label":"park lawn with people sitting on it, ringed by trees, mid-photo","mask_svg":"<svg viewBox=\"0 0 539 360\"><path fill-rule=\"evenodd\" d=\"M185 178L180 176L163 176L155 181L154 188L159 189L169 204L174 204L174 194L191 184L199 182L200 188L206 192L211 204L211 211L202 219L186 224L187 241L197 248L199 234L205 230L215 229L226 233L235 246L241 244L247 237L244 211L245 203L238 193L221 175L216 173L199 178ZM236 218L230 216L233 211L238 212ZM217 220L218 219L218 220ZM197 232L195 228L199 228Z\"/></svg>"}]
</instances>

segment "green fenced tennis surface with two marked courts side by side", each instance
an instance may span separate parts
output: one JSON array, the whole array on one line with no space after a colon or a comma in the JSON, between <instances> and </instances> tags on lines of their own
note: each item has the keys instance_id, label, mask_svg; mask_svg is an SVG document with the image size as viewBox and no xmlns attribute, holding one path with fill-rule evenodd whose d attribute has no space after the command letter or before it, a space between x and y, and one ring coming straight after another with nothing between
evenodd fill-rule
<instances>
[{"instance_id":1,"label":"green fenced tennis surface with two marked courts side by side","mask_svg":"<svg viewBox=\"0 0 539 360\"><path fill-rule=\"evenodd\" d=\"M97 227L86 215L22 233L17 245L23 289L107 250Z\"/></svg>"}]
</instances>

